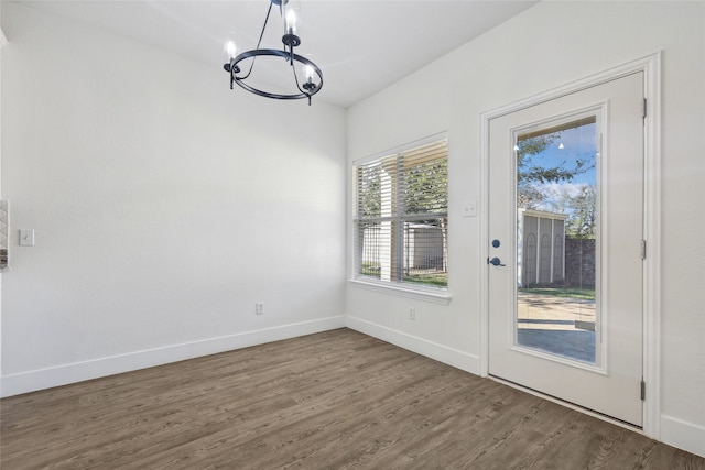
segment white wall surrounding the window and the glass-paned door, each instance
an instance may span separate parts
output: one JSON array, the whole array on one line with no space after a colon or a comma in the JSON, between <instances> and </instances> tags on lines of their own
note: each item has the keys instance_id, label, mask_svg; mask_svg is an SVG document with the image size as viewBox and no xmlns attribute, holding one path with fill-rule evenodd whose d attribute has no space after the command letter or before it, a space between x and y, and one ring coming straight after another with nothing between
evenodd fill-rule
<instances>
[{"instance_id":1,"label":"white wall surrounding the window and the glass-paned door","mask_svg":"<svg viewBox=\"0 0 705 470\"><path fill-rule=\"evenodd\" d=\"M705 3L542 2L348 110L352 162L449 144L449 305L348 286L348 325L480 371L480 113L663 51L662 440L705 456ZM481 207L481 205L478 205ZM416 320L408 308L416 308Z\"/></svg>"}]
</instances>

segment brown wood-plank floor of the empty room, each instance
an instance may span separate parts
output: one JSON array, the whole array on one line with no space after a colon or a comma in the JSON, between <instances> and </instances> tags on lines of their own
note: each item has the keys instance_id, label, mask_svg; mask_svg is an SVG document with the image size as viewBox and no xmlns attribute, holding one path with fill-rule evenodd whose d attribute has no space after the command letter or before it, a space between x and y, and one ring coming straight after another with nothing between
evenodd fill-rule
<instances>
[{"instance_id":1,"label":"brown wood-plank floor of the empty room","mask_svg":"<svg viewBox=\"0 0 705 470\"><path fill-rule=\"evenodd\" d=\"M1 468L705 469L349 329L4 398Z\"/></svg>"}]
</instances>

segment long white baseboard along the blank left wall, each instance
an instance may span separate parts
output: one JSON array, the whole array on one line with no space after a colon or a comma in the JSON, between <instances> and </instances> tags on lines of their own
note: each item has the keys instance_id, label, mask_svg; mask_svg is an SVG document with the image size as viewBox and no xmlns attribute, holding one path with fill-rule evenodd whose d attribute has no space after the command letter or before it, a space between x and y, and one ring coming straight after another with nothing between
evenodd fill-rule
<instances>
[{"instance_id":1,"label":"long white baseboard along the blank left wall","mask_svg":"<svg viewBox=\"0 0 705 470\"><path fill-rule=\"evenodd\" d=\"M329 317L4 375L0 378L0 396L35 392L344 327L344 316Z\"/></svg>"}]
</instances>

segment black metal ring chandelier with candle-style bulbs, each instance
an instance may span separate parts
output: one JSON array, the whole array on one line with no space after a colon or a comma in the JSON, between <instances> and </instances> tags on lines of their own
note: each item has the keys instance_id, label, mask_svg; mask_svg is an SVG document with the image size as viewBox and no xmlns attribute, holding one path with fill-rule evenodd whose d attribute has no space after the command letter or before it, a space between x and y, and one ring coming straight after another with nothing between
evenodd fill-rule
<instances>
[{"instance_id":1,"label":"black metal ring chandelier with candle-style bulbs","mask_svg":"<svg viewBox=\"0 0 705 470\"><path fill-rule=\"evenodd\" d=\"M290 6L292 0L270 0L269 9L267 10L267 17L264 18L264 25L262 25L262 32L257 43L257 47L251 51L246 51L236 55L236 45L234 42L228 42L226 45L226 52L229 61L223 65L223 68L230 74L230 89L232 84L237 84L241 88L260 95L267 98L274 99L308 99L308 106L311 106L311 97L321 91L323 87L323 72L321 68L306 57L303 57L294 53L294 47L301 45L301 39L296 35L296 13L294 8ZM272 6L278 6L282 20L284 22L284 35L282 36L283 48L260 48L262 37L264 36L264 30L269 22L270 14L272 12ZM261 87L256 87L251 83L247 83L247 79L254 69L254 64L258 57L275 57L275 59L284 59L291 66L293 80L297 91L293 92L272 92L264 91ZM245 65L243 61L248 61L249 65ZM301 75L303 80L300 80L300 76L296 73L297 66L301 67ZM292 88L293 90L293 88Z\"/></svg>"}]
</instances>

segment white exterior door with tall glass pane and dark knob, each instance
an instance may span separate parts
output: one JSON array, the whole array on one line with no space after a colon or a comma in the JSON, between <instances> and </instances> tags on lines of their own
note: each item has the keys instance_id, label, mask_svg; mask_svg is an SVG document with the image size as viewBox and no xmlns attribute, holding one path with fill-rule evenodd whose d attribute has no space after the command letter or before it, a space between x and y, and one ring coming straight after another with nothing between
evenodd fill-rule
<instances>
[{"instance_id":1,"label":"white exterior door with tall glass pane and dark knob","mask_svg":"<svg viewBox=\"0 0 705 470\"><path fill-rule=\"evenodd\" d=\"M643 73L489 123L489 373L642 425Z\"/></svg>"}]
</instances>

